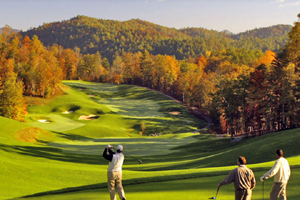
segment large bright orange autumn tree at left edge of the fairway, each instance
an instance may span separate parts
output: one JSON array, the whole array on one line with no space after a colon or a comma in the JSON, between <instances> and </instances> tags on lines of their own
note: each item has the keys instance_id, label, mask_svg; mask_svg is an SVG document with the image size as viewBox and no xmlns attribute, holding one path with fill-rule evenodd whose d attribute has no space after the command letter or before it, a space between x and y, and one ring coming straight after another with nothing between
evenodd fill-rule
<instances>
[{"instance_id":1,"label":"large bright orange autumn tree at left edge of the fairway","mask_svg":"<svg viewBox=\"0 0 300 200\"><path fill-rule=\"evenodd\" d=\"M25 95L52 96L59 91L62 71L55 52L48 51L37 36L25 37L21 44L18 77L23 80Z\"/></svg>"}]
</instances>

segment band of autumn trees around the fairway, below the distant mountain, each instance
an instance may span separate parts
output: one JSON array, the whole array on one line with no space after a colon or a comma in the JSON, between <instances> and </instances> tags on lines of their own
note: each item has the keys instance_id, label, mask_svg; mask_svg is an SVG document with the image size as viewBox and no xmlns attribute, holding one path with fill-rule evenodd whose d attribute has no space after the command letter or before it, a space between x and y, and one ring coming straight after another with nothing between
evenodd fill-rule
<instances>
[{"instance_id":1,"label":"band of autumn trees around the fairway, below the distant mountain","mask_svg":"<svg viewBox=\"0 0 300 200\"><path fill-rule=\"evenodd\" d=\"M59 92L61 80L81 79L171 95L210 116L217 132L250 135L299 127L299 27L295 22L277 54L223 48L180 60L144 49L116 51L112 62L100 52L82 54L78 47L45 47L37 36L21 39L6 27L0 36L0 115L22 121L22 94L49 97ZM7 106L18 114L8 114Z\"/></svg>"}]
</instances>

